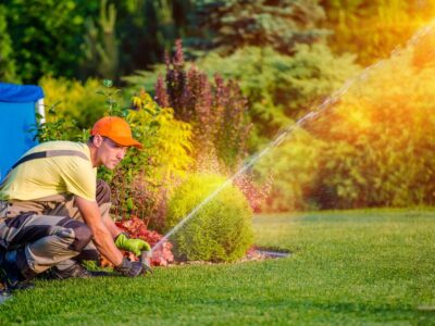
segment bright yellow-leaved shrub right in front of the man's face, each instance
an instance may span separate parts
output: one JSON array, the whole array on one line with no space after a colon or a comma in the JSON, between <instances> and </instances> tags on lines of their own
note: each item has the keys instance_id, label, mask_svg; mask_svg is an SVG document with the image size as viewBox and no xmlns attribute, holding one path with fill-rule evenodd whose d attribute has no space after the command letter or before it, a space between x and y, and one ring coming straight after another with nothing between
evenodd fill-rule
<instances>
[{"instance_id":1,"label":"bright yellow-leaved shrub right in front of the man's face","mask_svg":"<svg viewBox=\"0 0 435 326\"><path fill-rule=\"evenodd\" d=\"M133 98L133 104L136 110L126 120L144 150L130 149L107 179L111 179L116 214L127 211L161 229L166 197L192 163L191 126L177 121L171 108L160 108L145 91Z\"/></svg>"}]
</instances>

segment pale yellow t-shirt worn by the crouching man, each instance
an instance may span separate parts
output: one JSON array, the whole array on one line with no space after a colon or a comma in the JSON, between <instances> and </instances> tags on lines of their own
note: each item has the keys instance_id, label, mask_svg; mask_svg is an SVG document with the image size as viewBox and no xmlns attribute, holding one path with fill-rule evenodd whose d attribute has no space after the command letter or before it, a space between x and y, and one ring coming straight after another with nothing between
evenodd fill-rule
<instances>
[{"instance_id":1,"label":"pale yellow t-shirt worn by the crouching man","mask_svg":"<svg viewBox=\"0 0 435 326\"><path fill-rule=\"evenodd\" d=\"M92 167L86 143L72 141L42 142L22 158L52 150L79 151L88 158L66 155L35 159L16 166L0 189L2 200L38 200L53 195L73 193L96 200L97 168Z\"/></svg>"}]
</instances>

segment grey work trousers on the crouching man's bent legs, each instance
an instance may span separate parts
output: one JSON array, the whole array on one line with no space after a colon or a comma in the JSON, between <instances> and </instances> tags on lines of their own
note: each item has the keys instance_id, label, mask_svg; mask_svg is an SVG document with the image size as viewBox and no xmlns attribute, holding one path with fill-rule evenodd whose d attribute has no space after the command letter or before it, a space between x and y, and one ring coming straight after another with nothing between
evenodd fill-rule
<instances>
[{"instance_id":1,"label":"grey work trousers on the crouching man's bent legs","mask_svg":"<svg viewBox=\"0 0 435 326\"><path fill-rule=\"evenodd\" d=\"M101 216L104 216L111 205L110 188L98 180L96 193ZM91 239L92 233L83 222L72 195L34 201L0 201L0 250L24 250L17 265L26 277L50 267L63 271L76 262L98 260L99 253Z\"/></svg>"}]
</instances>

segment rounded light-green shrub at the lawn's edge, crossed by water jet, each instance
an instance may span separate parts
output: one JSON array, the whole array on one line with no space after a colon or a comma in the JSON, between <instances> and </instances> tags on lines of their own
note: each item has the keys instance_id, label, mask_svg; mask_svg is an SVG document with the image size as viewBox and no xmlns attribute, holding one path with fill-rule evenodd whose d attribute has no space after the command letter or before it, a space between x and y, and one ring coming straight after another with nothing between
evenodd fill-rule
<instances>
[{"instance_id":1,"label":"rounded light-green shrub at the lawn's edge, crossed by water jet","mask_svg":"<svg viewBox=\"0 0 435 326\"><path fill-rule=\"evenodd\" d=\"M223 183L225 178L217 175L189 176L167 203L167 229L178 224ZM252 239L252 211L245 196L234 186L222 189L171 237L178 259L214 262L243 258Z\"/></svg>"}]
</instances>

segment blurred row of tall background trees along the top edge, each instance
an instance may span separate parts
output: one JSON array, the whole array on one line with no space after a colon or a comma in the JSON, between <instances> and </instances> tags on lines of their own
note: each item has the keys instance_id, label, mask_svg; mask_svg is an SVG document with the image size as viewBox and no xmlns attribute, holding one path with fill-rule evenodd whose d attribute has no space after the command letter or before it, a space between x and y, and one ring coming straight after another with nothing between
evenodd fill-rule
<instances>
[{"instance_id":1,"label":"blurred row of tall background trees along the top edge","mask_svg":"<svg viewBox=\"0 0 435 326\"><path fill-rule=\"evenodd\" d=\"M0 76L119 80L161 63L177 38L189 60L247 46L291 55L323 42L366 65L434 14L430 0L3 0Z\"/></svg>"}]
</instances>

